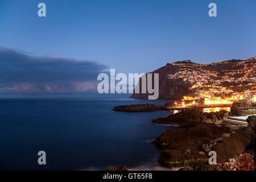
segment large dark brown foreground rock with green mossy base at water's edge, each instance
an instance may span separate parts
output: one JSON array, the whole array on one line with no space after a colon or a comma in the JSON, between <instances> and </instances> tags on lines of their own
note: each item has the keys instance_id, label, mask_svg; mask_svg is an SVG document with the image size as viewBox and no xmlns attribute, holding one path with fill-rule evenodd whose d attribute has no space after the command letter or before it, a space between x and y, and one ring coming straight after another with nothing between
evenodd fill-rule
<instances>
[{"instance_id":1,"label":"large dark brown foreground rock with green mossy base at water's edge","mask_svg":"<svg viewBox=\"0 0 256 182\"><path fill-rule=\"evenodd\" d=\"M179 130L167 129L154 141L160 148L159 163L165 167L203 167L208 163L208 155L203 151L202 144L229 132L229 127L219 127L214 123L200 123Z\"/></svg>"}]
</instances>

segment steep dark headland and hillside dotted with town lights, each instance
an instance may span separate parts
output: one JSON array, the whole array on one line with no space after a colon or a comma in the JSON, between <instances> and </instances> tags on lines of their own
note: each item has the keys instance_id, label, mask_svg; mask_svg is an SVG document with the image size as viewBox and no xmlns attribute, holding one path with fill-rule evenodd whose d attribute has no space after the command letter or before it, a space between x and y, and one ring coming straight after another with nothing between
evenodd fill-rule
<instances>
[{"instance_id":1,"label":"steep dark headland and hillside dotted with town lights","mask_svg":"<svg viewBox=\"0 0 256 182\"><path fill-rule=\"evenodd\" d=\"M181 100L205 94L235 97L246 90L255 91L255 63L256 57L210 64L186 60L167 63L151 73L159 73L159 99ZM134 93L131 98L147 99L147 95Z\"/></svg>"}]
</instances>

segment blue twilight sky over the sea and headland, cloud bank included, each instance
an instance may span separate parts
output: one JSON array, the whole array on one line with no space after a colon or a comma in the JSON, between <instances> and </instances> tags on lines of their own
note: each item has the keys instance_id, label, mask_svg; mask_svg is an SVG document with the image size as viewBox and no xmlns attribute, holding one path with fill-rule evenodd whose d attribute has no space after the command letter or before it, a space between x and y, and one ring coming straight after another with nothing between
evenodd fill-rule
<instances>
[{"instance_id":1,"label":"blue twilight sky over the sea and headland, cloud bank included","mask_svg":"<svg viewBox=\"0 0 256 182\"><path fill-rule=\"evenodd\" d=\"M40 2L47 17L38 17ZM217 17L208 15L211 2ZM255 9L255 0L0 0L0 92L62 92L71 82L86 92L77 82L88 86L109 68L146 73L179 60L248 59L256 55Z\"/></svg>"}]
</instances>

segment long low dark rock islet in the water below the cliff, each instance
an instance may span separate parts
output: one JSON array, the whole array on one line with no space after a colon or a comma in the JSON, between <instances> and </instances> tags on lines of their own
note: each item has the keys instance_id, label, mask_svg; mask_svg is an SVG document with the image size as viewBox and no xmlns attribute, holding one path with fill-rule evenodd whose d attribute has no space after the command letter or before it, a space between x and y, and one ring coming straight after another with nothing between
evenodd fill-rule
<instances>
[{"instance_id":1,"label":"long low dark rock islet in the water below the cliff","mask_svg":"<svg viewBox=\"0 0 256 182\"><path fill-rule=\"evenodd\" d=\"M116 106L113 110L116 111L154 111L165 110L163 106L156 106L154 104L137 104L137 105L124 105Z\"/></svg>"}]
</instances>

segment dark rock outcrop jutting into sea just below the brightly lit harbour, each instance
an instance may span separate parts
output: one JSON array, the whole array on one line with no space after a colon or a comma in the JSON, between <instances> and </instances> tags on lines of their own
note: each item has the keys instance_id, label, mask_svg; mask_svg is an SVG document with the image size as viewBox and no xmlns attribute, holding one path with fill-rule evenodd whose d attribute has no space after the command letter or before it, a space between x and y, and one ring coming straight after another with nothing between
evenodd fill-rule
<instances>
[{"instance_id":1,"label":"dark rock outcrop jutting into sea just below the brightly lit harbour","mask_svg":"<svg viewBox=\"0 0 256 182\"><path fill-rule=\"evenodd\" d=\"M180 111L180 113L170 114L166 118L153 119L152 122L158 124L193 124L193 123L218 123L223 118L228 117L229 112L225 110L216 113L203 113L200 108L187 108Z\"/></svg>"}]
</instances>

